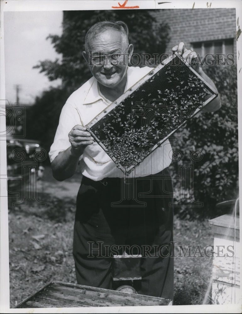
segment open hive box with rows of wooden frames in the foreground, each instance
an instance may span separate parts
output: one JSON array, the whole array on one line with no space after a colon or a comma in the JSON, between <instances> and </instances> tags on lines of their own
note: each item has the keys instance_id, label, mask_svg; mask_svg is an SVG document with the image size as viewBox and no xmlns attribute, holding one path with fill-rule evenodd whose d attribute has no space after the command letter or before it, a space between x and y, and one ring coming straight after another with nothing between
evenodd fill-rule
<instances>
[{"instance_id":1,"label":"open hive box with rows of wooden frames in the foreground","mask_svg":"<svg viewBox=\"0 0 242 314\"><path fill-rule=\"evenodd\" d=\"M52 281L14 308L161 306L171 300Z\"/></svg>"}]
</instances>

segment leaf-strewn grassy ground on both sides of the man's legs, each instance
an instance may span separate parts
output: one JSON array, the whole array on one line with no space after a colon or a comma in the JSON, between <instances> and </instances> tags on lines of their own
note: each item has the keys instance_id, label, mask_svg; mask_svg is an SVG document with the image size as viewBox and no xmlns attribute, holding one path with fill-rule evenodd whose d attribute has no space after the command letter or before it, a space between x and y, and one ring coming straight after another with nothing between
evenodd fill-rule
<instances>
[{"instance_id":1,"label":"leaf-strewn grassy ground on both sides of the man's legs","mask_svg":"<svg viewBox=\"0 0 242 314\"><path fill-rule=\"evenodd\" d=\"M38 181L38 201L46 206L13 206L9 198L10 307L14 307L49 281L76 283L72 257L75 198L81 175L58 182L50 168ZM31 202L29 202L30 205ZM36 205L36 203L35 203ZM208 221L174 217L175 256L192 245L213 244ZM212 257L174 258L174 304L202 304L212 276ZM211 303L211 298L207 304Z\"/></svg>"}]
</instances>

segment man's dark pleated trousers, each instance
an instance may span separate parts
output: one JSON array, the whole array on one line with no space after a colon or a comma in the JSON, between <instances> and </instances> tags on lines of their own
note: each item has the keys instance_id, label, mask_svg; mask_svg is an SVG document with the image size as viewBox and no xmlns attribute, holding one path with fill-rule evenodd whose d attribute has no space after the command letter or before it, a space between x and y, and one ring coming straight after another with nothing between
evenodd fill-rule
<instances>
[{"instance_id":1,"label":"man's dark pleated trousers","mask_svg":"<svg viewBox=\"0 0 242 314\"><path fill-rule=\"evenodd\" d=\"M167 169L126 183L120 178L83 177L74 223L77 283L112 289L112 252L122 254L125 248L128 254L143 256L142 280L134 280L136 291L173 299L172 201Z\"/></svg>"}]
</instances>

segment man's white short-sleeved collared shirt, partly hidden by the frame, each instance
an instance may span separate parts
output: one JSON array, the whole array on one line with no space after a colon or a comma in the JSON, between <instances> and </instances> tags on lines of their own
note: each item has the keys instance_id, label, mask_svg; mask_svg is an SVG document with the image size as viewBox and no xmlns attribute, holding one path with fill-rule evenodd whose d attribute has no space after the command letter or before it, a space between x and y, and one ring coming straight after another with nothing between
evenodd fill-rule
<instances>
[{"instance_id":1,"label":"man's white short-sleeved collared shirt, partly hidden by the frame","mask_svg":"<svg viewBox=\"0 0 242 314\"><path fill-rule=\"evenodd\" d=\"M128 67L125 91L151 70L149 67ZM75 125L85 126L110 104L111 101L101 94L98 82L94 77L74 91L62 108L54 142L49 152L50 161L52 162L60 152L70 147L68 134ZM172 148L169 140L166 140L147 156L129 176L140 177L156 174L168 167L171 160ZM80 156L80 168L84 176L94 181L102 180L105 177L124 177L123 172L117 168L113 160L96 142L88 145Z\"/></svg>"}]
</instances>

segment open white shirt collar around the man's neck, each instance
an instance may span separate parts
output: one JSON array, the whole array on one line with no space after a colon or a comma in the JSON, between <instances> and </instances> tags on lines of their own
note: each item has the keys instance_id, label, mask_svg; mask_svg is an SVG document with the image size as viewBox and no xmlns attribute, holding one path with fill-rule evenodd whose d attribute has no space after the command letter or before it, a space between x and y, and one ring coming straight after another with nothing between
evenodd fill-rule
<instances>
[{"instance_id":1,"label":"open white shirt collar around the man's neck","mask_svg":"<svg viewBox=\"0 0 242 314\"><path fill-rule=\"evenodd\" d=\"M132 79L130 79L129 72L130 72L130 67L128 67L127 69L127 82L126 82L124 91L126 91L127 89L129 89L131 86L133 86L136 83L136 82L133 82ZM106 102L107 104L112 103L112 101L108 100L102 95L96 78L92 77L91 86L87 92L86 98L83 101L83 105L91 105L91 104L96 103L99 100L102 100Z\"/></svg>"}]
</instances>

